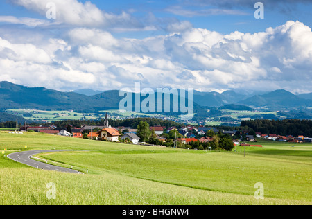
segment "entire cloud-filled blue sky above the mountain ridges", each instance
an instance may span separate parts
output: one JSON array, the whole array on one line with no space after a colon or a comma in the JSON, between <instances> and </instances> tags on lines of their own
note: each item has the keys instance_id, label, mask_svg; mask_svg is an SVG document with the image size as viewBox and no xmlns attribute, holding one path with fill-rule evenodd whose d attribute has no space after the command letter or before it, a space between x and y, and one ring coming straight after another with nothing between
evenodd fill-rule
<instances>
[{"instance_id":1,"label":"entire cloud-filled blue sky above the mountain ridges","mask_svg":"<svg viewBox=\"0 0 312 219\"><path fill-rule=\"evenodd\" d=\"M311 27L311 0L0 0L0 81L309 93Z\"/></svg>"}]
</instances>

